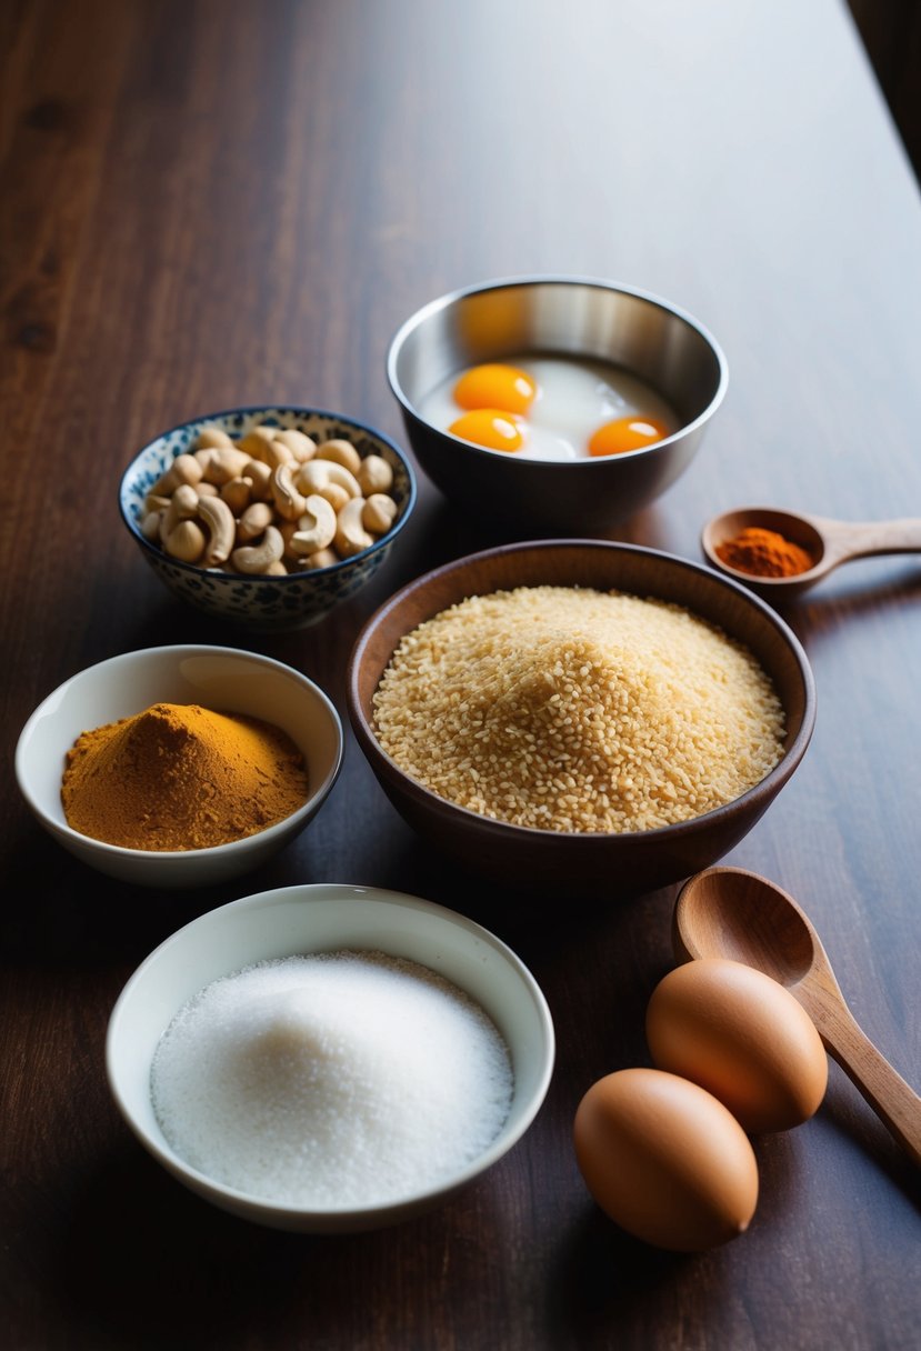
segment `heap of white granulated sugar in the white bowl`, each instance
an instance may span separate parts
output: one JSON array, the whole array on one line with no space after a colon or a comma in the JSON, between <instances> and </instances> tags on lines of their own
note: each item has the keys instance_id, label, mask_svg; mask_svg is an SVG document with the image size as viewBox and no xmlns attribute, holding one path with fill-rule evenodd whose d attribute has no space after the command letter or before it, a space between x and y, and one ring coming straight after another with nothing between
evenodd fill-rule
<instances>
[{"instance_id":1,"label":"heap of white granulated sugar in the white bowl","mask_svg":"<svg viewBox=\"0 0 921 1351\"><path fill-rule=\"evenodd\" d=\"M163 1034L151 1098L209 1178L307 1209L435 1188L498 1135L509 1054L482 1008L382 952L292 957L205 986Z\"/></svg>"}]
</instances>

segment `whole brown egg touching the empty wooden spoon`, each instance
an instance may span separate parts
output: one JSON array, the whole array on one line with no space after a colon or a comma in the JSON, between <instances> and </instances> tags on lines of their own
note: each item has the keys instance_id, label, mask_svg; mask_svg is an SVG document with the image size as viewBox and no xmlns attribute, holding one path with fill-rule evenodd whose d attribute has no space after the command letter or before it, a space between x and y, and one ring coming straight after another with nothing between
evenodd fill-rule
<instances>
[{"instance_id":1,"label":"whole brown egg touching the empty wooden spoon","mask_svg":"<svg viewBox=\"0 0 921 1351\"><path fill-rule=\"evenodd\" d=\"M806 1011L778 981L741 962L675 967L646 1016L655 1065L700 1084L745 1131L787 1131L816 1112L828 1056Z\"/></svg>"}]
</instances>

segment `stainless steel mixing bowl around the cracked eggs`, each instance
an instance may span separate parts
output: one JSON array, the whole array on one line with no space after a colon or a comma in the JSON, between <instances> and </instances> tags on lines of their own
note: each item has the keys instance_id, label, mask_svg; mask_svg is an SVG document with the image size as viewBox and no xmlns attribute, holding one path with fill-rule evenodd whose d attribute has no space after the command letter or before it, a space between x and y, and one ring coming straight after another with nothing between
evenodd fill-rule
<instances>
[{"instance_id":1,"label":"stainless steel mixing bowl around the cracked eggs","mask_svg":"<svg viewBox=\"0 0 921 1351\"><path fill-rule=\"evenodd\" d=\"M425 396L452 373L535 355L610 362L647 381L681 428L641 450L554 462L486 450L431 426ZM581 277L521 277L451 292L412 315L388 380L420 467L465 511L512 528L605 534L659 497L694 458L727 389L714 338L656 296Z\"/></svg>"}]
</instances>

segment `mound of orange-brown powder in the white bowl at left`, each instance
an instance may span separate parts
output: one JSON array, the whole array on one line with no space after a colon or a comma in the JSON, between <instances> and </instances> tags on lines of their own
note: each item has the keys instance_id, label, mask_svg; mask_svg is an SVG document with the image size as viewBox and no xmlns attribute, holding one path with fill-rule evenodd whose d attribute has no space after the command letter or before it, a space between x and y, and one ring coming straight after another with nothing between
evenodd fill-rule
<instances>
[{"instance_id":1,"label":"mound of orange-brown powder in the white bowl at left","mask_svg":"<svg viewBox=\"0 0 921 1351\"><path fill-rule=\"evenodd\" d=\"M61 784L73 830L144 850L228 844L307 797L307 766L286 732L199 704L154 704L82 732Z\"/></svg>"}]
</instances>

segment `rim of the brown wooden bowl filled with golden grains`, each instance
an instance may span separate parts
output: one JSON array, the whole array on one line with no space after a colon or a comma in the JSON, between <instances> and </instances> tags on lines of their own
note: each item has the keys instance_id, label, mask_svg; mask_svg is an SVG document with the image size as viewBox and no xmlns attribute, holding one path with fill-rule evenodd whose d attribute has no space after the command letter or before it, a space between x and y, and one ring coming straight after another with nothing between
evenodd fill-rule
<instances>
[{"instance_id":1,"label":"rim of the brown wooden bowl filled with golden grains","mask_svg":"<svg viewBox=\"0 0 921 1351\"><path fill-rule=\"evenodd\" d=\"M797 670L799 673L802 688L804 688L804 708L802 719L799 727L790 742L785 747L783 754L778 763L767 771L767 774L760 778L756 784L752 784L749 789L740 793L739 797L733 797L732 801L724 802L720 807L712 808L709 812L702 812L700 816L691 816L686 821L675 821L671 825L658 825L648 831L544 831L532 825L516 825L512 821L493 820L488 816L481 816L478 812L471 811L467 807L460 807L448 798L439 797L431 789L420 784L419 780L413 778L404 769L401 769L397 762L388 755L377 736L369 719L365 716L365 711L361 704L358 684L362 659L369 642L378 628L379 624L388 617L388 615L396 609L404 600L406 600L413 592L423 590L425 586L436 582L443 577L448 577L452 573L462 573L466 567L474 563L483 562L486 559L498 558L509 554L524 553L525 550L539 550L542 553L550 553L559 549L581 549L604 551L609 554L631 554L631 555L646 555L655 559L664 559L668 566L678 567L679 570L686 570L695 576L704 576L708 581L716 582L718 588L727 589L735 593L747 607L754 609L760 615L763 620L772 627L778 635L786 643L789 651L791 653ZM535 584L536 585L536 584ZM504 588L505 589L505 588ZM687 607L691 609L691 607ZM438 612L436 612L438 613ZM717 624L716 620L708 619L705 615L697 613L697 617L706 620L710 624ZM421 621L420 621L421 623ZM717 627L721 627L717 624ZM732 636L732 635L729 635ZM741 642L737 639L737 642ZM748 646L748 644L745 644ZM348 709L348 717L362 751L367 757L369 762L374 765L377 759L384 766L389 775L396 780L405 782L412 786L413 793L425 801L429 809L438 812L446 812L458 821L469 821L470 824L477 823L479 831L485 831L488 835L494 835L497 839L513 839L519 844L527 844L531 842L536 844L539 840L547 840L552 838L559 840L563 847L569 842L570 847L585 848L586 842L591 846L597 846L601 842L610 840L648 840L655 843L658 838L668 835L670 840L681 840L685 836L694 835L708 825L718 821L727 820L744 812L751 802L763 797L766 793L771 793L775 788L786 784L786 781L793 775L794 770L806 754L809 742L816 725L816 707L817 707L817 692L816 692L816 678L809 663L806 651L793 632L786 620L772 609L767 601L762 600L754 592L748 590L740 582L735 581L732 577L727 577L717 573L713 567L706 567L702 563L693 562L689 558L682 558L678 554L670 554L660 549L652 549L648 544L631 544L621 543L619 540L604 540L604 539L531 539L531 540L516 540L513 543L496 544L490 549L479 550L474 554L466 554L460 558L451 559L438 567L431 569L427 573L421 573L419 577L406 582L398 590L393 592L362 624L355 643L352 646L351 654L348 657L348 663L346 669L346 704ZM786 711L785 711L786 712Z\"/></svg>"}]
</instances>

